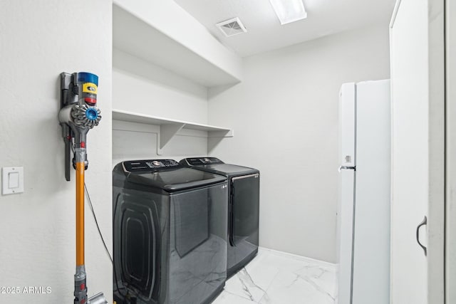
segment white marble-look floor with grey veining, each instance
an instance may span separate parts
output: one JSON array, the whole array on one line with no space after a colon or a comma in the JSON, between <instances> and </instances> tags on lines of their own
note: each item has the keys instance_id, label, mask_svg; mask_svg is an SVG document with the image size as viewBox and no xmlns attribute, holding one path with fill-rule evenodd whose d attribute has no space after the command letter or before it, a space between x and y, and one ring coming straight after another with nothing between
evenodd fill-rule
<instances>
[{"instance_id":1,"label":"white marble-look floor with grey veining","mask_svg":"<svg viewBox=\"0 0 456 304\"><path fill-rule=\"evenodd\" d=\"M334 264L259 248L212 303L333 304L336 293Z\"/></svg>"}]
</instances>

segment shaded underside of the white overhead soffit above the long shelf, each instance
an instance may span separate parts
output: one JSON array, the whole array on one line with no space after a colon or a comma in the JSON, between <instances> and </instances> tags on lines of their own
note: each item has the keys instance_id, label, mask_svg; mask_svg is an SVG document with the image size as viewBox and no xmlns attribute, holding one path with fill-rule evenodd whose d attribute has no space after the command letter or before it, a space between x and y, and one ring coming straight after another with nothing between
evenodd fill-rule
<instances>
[{"instance_id":1,"label":"shaded underside of the white overhead soffit above the long shelf","mask_svg":"<svg viewBox=\"0 0 456 304\"><path fill-rule=\"evenodd\" d=\"M183 45L175 40L176 38L178 37L162 33L150 21L138 16L138 12L129 11L118 4L113 5L113 46L115 48L207 88L241 81L239 71L242 61L239 58L233 60L233 56L224 54L228 52L224 51L219 54L219 57L224 58L223 61L215 61L213 58L209 60L204 58L204 54ZM204 41L203 38L197 36L195 40Z\"/></svg>"}]
</instances>

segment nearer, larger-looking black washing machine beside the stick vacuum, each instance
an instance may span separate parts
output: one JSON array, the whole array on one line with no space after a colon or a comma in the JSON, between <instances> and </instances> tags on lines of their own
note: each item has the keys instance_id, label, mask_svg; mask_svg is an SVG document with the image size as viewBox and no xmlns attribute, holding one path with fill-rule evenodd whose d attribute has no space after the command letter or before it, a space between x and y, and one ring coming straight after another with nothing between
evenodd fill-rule
<instances>
[{"instance_id":1,"label":"nearer, larger-looking black washing machine beside the stick vacuum","mask_svg":"<svg viewBox=\"0 0 456 304\"><path fill-rule=\"evenodd\" d=\"M226 177L172 159L117 164L117 303L210 303L227 279L227 195Z\"/></svg>"}]
</instances>

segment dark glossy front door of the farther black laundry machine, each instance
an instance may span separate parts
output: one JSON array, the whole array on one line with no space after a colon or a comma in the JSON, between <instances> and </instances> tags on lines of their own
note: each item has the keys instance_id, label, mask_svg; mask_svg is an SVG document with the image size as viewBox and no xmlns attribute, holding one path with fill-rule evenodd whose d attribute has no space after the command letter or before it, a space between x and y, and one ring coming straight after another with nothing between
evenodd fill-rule
<instances>
[{"instance_id":1,"label":"dark glossy front door of the farther black laundry machine","mask_svg":"<svg viewBox=\"0 0 456 304\"><path fill-rule=\"evenodd\" d=\"M230 211L229 243L258 246L259 174L232 178Z\"/></svg>"}]
</instances>

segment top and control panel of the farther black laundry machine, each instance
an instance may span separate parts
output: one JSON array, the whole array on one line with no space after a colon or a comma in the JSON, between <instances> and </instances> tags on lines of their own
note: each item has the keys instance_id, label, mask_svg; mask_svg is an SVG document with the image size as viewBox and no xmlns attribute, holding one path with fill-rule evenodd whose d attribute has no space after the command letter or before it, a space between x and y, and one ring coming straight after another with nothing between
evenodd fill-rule
<instances>
[{"instance_id":1,"label":"top and control panel of the farther black laundry machine","mask_svg":"<svg viewBox=\"0 0 456 304\"><path fill-rule=\"evenodd\" d=\"M198 163L195 162L195 159L210 159L211 162L202 162ZM225 164L221 160L215 157L192 157L192 158L185 158L180 161L180 164L184 165L185 167L191 167L198 170L202 170L204 172L211 172L214 174L221 174L225 176L233 176L233 175L245 175L245 174L255 174L259 173L259 170L238 166L237 164Z\"/></svg>"}]
</instances>

